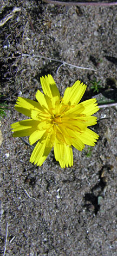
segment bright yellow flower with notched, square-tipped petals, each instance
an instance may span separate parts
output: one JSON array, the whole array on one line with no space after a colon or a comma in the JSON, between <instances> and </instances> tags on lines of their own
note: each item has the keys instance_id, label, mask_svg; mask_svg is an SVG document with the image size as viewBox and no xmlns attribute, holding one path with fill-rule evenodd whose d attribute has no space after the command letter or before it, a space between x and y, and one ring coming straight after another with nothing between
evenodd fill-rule
<instances>
[{"instance_id":1,"label":"bright yellow flower with notched, square-tipped petals","mask_svg":"<svg viewBox=\"0 0 117 256\"><path fill-rule=\"evenodd\" d=\"M41 166L54 148L56 161L61 168L73 166L72 145L82 151L85 144L94 146L99 136L87 126L96 124L92 114L99 110L96 99L79 103L86 85L79 80L68 87L64 96L51 75L41 77L43 93L37 90L36 101L18 97L15 109L31 119L11 125L13 136L29 136L30 145L36 141L30 162ZM79 104L78 104L79 103Z\"/></svg>"}]
</instances>

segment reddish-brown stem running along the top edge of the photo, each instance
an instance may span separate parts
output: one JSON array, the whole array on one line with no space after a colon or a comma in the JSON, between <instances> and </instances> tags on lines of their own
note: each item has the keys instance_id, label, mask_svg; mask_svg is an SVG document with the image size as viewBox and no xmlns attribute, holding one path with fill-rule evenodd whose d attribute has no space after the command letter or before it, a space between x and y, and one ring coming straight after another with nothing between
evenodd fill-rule
<instances>
[{"instance_id":1,"label":"reddish-brown stem running along the top edge of the photo","mask_svg":"<svg viewBox=\"0 0 117 256\"><path fill-rule=\"evenodd\" d=\"M111 6L111 5L117 5L117 2L61 2L61 1L53 1L53 0L43 0L45 3L49 4L57 4L57 5L91 5L91 6Z\"/></svg>"}]
</instances>

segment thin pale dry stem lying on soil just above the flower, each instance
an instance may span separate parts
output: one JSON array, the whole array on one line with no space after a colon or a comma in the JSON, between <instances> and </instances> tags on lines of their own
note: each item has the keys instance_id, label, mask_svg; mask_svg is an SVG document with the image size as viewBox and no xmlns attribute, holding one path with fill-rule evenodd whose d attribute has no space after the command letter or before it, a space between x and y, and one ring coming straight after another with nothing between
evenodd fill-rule
<instances>
[{"instance_id":1,"label":"thin pale dry stem lying on soil just above the flower","mask_svg":"<svg viewBox=\"0 0 117 256\"><path fill-rule=\"evenodd\" d=\"M73 68L93 70L93 71L97 72L97 70L95 70L95 69L83 68L83 66L75 66L75 65L69 64L69 63L64 62L64 61L62 61L62 60L59 60L59 59L52 59L52 58L43 57L43 56L35 55L35 54L33 54L33 55L31 56L30 54L25 54L25 53L23 53L23 54L22 54L22 56L27 56L27 57L37 57L37 58L41 58L41 59L48 59L48 60L52 60L52 61L54 61L54 62L62 63L63 65L73 66Z\"/></svg>"}]
</instances>

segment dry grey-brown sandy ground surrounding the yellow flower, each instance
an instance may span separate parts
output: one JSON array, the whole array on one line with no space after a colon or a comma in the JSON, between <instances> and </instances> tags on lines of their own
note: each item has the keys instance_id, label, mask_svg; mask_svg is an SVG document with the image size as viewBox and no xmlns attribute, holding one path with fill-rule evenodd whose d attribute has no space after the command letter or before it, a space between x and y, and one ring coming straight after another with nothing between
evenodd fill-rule
<instances>
[{"instance_id":1,"label":"dry grey-brown sandy ground surrounding the yellow flower","mask_svg":"<svg viewBox=\"0 0 117 256\"><path fill-rule=\"evenodd\" d=\"M99 141L82 152L74 149L72 168L61 169L53 151L42 167L31 164L32 148L12 138L10 129L25 119L14 109L17 96L35 100L42 75L53 75L61 95L80 79L87 84L83 100L117 101L116 11L43 1L1 3L1 101L9 105L1 119L1 255L116 255L116 108L96 113ZM95 93L94 78L101 80Z\"/></svg>"}]
</instances>

